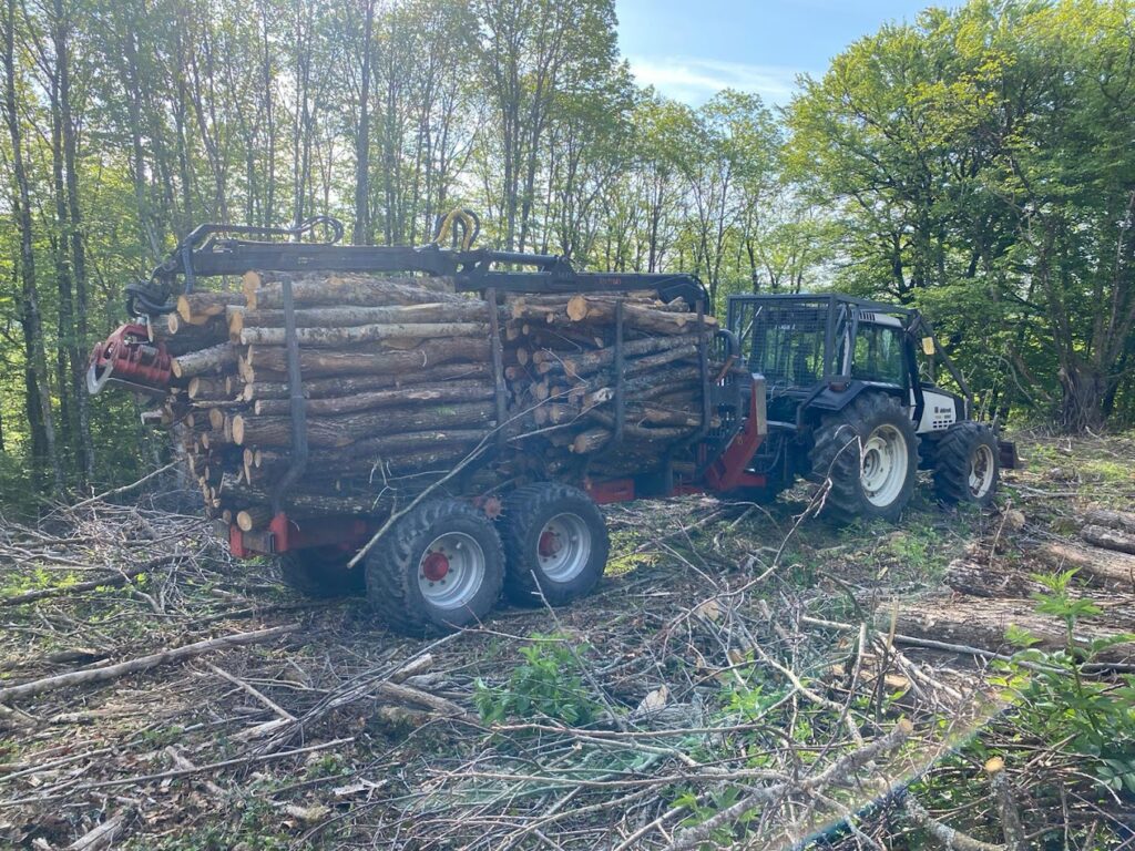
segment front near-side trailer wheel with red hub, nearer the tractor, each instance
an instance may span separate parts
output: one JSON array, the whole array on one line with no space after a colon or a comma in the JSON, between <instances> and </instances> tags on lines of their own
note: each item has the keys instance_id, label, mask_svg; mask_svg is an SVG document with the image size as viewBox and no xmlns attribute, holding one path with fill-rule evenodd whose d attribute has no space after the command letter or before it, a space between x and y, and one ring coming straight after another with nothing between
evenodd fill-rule
<instances>
[{"instance_id":1,"label":"front near-side trailer wheel with red hub, nearer the tractor","mask_svg":"<svg viewBox=\"0 0 1135 851\"><path fill-rule=\"evenodd\" d=\"M595 588L607 566L607 524L578 488L540 482L516 488L501 515L505 593L522 606L563 606Z\"/></svg>"}]
</instances>

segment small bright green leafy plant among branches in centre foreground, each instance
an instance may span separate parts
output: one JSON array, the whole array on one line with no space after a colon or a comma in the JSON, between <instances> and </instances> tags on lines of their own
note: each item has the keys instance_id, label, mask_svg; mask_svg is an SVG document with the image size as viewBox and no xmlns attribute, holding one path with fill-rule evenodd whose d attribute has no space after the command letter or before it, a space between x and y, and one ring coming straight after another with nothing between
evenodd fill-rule
<instances>
[{"instance_id":1,"label":"small bright green leafy plant among branches in centre foreground","mask_svg":"<svg viewBox=\"0 0 1135 851\"><path fill-rule=\"evenodd\" d=\"M481 719L493 723L544 717L573 726L590 724L600 706L583 685L577 660L577 654L585 655L588 646L560 634L533 633L530 639L533 643L520 648L524 662L513 668L504 686L477 681L473 702Z\"/></svg>"}]
</instances>

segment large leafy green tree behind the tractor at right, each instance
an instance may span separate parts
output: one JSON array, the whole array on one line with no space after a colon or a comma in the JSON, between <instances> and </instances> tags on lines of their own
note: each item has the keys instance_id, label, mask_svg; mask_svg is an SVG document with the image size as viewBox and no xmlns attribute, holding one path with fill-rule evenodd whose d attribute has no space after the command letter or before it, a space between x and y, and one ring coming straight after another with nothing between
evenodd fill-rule
<instances>
[{"instance_id":1,"label":"large leafy green tree behind the tractor at right","mask_svg":"<svg viewBox=\"0 0 1135 851\"><path fill-rule=\"evenodd\" d=\"M1135 413L1133 20L1129 0L932 8L792 103L788 162L840 222L838 285L923 307L991 414Z\"/></svg>"}]
</instances>

